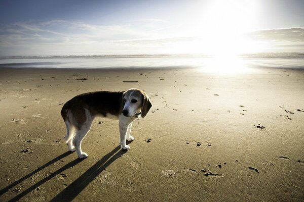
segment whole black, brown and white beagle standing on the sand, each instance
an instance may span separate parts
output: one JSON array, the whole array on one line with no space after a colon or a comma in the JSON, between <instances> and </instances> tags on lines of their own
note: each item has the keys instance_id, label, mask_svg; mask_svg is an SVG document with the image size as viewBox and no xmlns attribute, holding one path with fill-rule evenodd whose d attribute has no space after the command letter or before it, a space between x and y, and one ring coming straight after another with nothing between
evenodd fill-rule
<instances>
[{"instance_id":1,"label":"whole black, brown and white beagle standing on the sand","mask_svg":"<svg viewBox=\"0 0 304 202\"><path fill-rule=\"evenodd\" d=\"M119 120L121 148L130 149L126 140L134 140L130 134L132 122L139 116L144 118L151 107L148 95L135 88L125 92L88 92L73 97L61 110L68 150L76 151L80 159L88 157L81 149L81 142L90 131L93 119L98 116Z\"/></svg>"}]
</instances>

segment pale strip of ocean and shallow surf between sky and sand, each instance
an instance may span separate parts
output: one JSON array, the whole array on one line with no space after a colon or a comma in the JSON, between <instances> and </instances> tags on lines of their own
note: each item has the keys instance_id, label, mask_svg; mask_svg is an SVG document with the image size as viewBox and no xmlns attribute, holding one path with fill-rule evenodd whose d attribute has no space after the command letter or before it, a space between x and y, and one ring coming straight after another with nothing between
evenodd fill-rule
<instances>
[{"instance_id":1,"label":"pale strip of ocean and shallow surf between sky and sand","mask_svg":"<svg viewBox=\"0 0 304 202\"><path fill-rule=\"evenodd\" d=\"M304 54L207 55L104 55L0 57L0 68L200 68L236 72L249 68L304 69Z\"/></svg>"}]
</instances>

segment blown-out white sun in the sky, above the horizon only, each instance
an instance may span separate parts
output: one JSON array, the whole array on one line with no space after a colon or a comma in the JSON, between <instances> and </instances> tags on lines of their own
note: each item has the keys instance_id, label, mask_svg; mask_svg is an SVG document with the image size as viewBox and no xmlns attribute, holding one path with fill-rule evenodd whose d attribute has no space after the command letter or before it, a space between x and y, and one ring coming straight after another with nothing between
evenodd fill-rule
<instances>
[{"instance_id":1,"label":"blown-out white sun in the sky, above the horizon only","mask_svg":"<svg viewBox=\"0 0 304 202\"><path fill-rule=\"evenodd\" d=\"M257 7L256 1L210 1L196 17L201 50L215 56L254 51L244 33L256 26Z\"/></svg>"}]
</instances>

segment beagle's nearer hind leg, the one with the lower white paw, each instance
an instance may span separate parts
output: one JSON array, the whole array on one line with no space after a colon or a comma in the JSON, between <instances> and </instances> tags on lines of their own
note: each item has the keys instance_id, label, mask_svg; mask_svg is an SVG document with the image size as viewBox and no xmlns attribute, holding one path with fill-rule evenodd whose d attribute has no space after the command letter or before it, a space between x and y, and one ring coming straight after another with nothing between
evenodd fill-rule
<instances>
[{"instance_id":1,"label":"beagle's nearer hind leg, the one with the lower white paw","mask_svg":"<svg viewBox=\"0 0 304 202\"><path fill-rule=\"evenodd\" d=\"M86 121L84 124L82 124L81 128L75 129L75 136L72 140L73 145L76 150L76 154L78 158L85 159L88 157L87 153L83 152L81 149L81 142L85 138L85 136L88 134L88 132L91 129L93 118L90 115L90 112L86 110Z\"/></svg>"}]
</instances>

